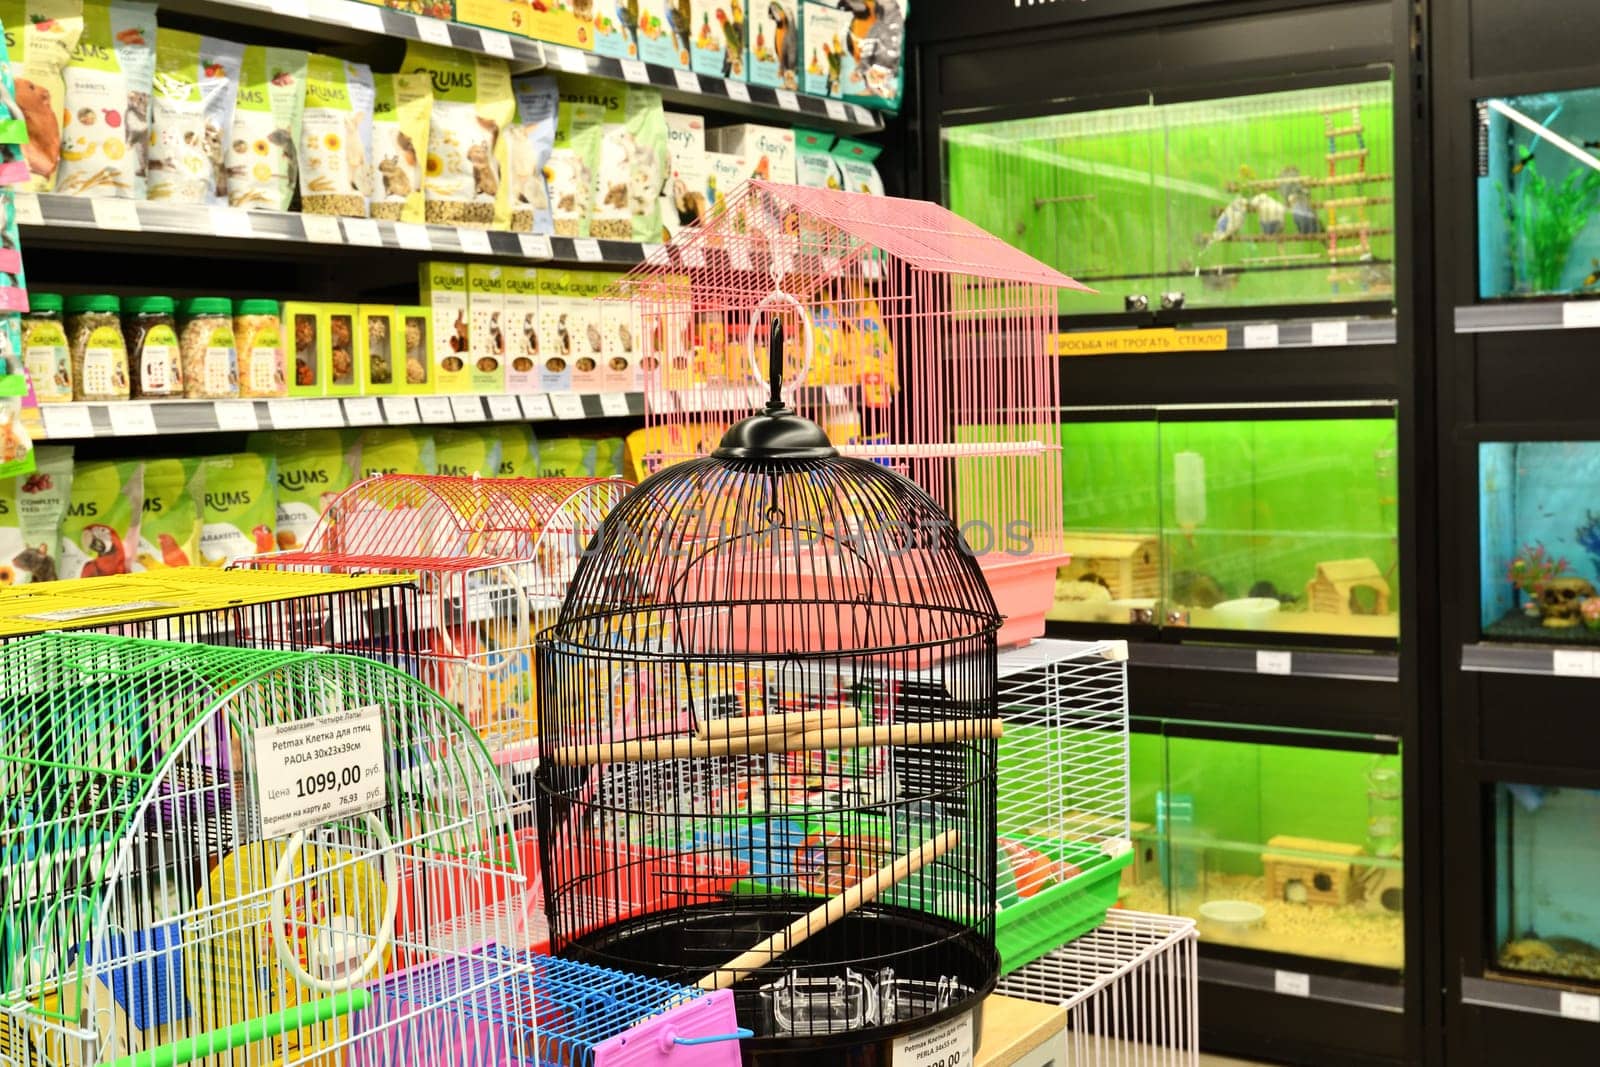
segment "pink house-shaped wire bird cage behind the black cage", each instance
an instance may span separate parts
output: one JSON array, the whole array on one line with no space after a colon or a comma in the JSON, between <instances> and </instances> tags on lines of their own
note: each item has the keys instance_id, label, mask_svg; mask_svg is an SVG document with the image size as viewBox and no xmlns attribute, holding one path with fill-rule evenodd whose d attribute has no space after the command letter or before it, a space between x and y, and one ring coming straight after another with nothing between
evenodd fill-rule
<instances>
[{"instance_id":1,"label":"pink house-shaped wire bird cage behind the black cage","mask_svg":"<svg viewBox=\"0 0 1600 1067\"><path fill-rule=\"evenodd\" d=\"M747 182L608 294L630 302L645 370L632 451L654 472L758 410L758 328L776 317L802 341L786 350L786 400L840 453L938 501L1006 616L1000 643L1022 643L1043 632L1067 560L1059 290L1088 291L938 205Z\"/></svg>"}]
</instances>

